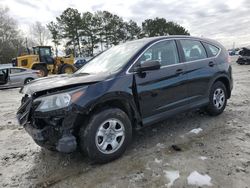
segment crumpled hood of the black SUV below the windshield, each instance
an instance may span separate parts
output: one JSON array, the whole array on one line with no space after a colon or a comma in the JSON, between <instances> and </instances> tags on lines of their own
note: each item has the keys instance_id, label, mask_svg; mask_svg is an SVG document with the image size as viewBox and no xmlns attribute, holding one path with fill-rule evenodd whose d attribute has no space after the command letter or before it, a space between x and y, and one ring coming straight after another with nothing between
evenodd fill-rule
<instances>
[{"instance_id":1,"label":"crumpled hood of the black SUV below the windshield","mask_svg":"<svg viewBox=\"0 0 250 188\"><path fill-rule=\"evenodd\" d=\"M108 79L108 75L104 74L61 74L45 78L36 79L21 88L23 94L33 94L39 91L56 89L65 86L79 86L83 84L92 84Z\"/></svg>"}]
</instances>

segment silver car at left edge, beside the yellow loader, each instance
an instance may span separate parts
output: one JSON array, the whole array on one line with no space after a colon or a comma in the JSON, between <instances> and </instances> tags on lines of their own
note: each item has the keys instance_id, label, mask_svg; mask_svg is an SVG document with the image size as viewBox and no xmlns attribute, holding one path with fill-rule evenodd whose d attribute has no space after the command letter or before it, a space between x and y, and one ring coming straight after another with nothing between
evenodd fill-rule
<instances>
[{"instance_id":1,"label":"silver car at left edge, beside the yellow loader","mask_svg":"<svg viewBox=\"0 0 250 188\"><path fill-rule=\"evenodd\" d=\"M36 78L39 78L39 71L37 70L0 67L0 89L22 87Z\"/></svg>"}]
</instances>

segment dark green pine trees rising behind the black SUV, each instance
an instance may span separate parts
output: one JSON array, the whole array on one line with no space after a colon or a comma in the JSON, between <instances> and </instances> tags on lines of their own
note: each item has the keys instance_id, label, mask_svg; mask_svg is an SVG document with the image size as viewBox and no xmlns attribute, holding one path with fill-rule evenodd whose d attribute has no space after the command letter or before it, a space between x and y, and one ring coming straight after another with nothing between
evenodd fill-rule
<instances>
[{"instance_id":1,"label":"dark green pine trees rising behind the black SUV","mask_svg":"<svg viewBox=\"0 0 250 188\"><path fill-rule=\"evenodd\" d=\"M73 8L64 10L56 17L56 22L50 22L47 27L55 48L64 39L66 52L75 56L93 56L96 48L103 51L120 42L143 37L189 35L183 26L165 18L146 19L139 26L133 20L124 21L108 11L81 14Z\"/></svg>"}]
</instances>

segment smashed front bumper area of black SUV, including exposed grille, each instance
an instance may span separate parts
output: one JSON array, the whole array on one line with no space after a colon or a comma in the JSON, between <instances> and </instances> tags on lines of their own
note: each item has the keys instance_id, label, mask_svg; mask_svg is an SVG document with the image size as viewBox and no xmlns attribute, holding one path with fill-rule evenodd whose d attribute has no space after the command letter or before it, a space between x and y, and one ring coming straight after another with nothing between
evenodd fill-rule
<instances>
[{"instance_id":1,"label":"smashed front bumper area of black SUV, including exposed grille","mask_svg":"<svg viewBox=\"0 0 250 188\"><path fill-rule=\"evenodd\" d=\"M77 111L72 107L53 112L36 112L31 98L23 100L17 119L33 140L49 150L70 153L76 150L75 121Z\"/></svg>"}]
</instances>

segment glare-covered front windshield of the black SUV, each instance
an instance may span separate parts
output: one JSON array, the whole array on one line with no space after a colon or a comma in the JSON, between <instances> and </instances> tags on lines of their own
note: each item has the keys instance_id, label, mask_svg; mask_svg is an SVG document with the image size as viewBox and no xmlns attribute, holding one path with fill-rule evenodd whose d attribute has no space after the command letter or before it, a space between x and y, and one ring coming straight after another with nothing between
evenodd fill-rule
<instances>
[{"instance_id":1,"label":"glare-covered front windshield of the black SUV","mask_svg":"<svg viewBox=\"0 0 250 188\"><path fill-rule=\"evenodd\" d=\"M121 70L128 60L145 44L145 40L138 40L114 46L89 61L76 73L113 74Z\"/></svg>"}]
</instances>

